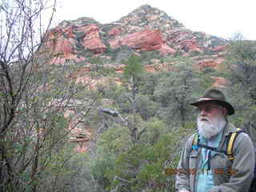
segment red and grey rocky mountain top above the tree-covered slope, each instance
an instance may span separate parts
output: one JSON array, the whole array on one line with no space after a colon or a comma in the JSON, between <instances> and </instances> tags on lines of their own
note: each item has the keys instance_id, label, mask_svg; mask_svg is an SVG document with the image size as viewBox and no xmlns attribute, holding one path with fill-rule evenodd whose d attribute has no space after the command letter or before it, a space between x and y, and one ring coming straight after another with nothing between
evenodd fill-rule
<instances>
[{"instance_id":1,"label":"red and grey rocky mountain top above the tree-covered slope","mask_svg":"<svg viewBox=\"0 0 256 192\"><path fill-rule=\"evenodd\" d=\"M117 22L100 24L91 18L61 22L46 34L48 50L64 58L82 62L88 54L105 54L122 46L131 50L158 50L160 54L219 54L226 49L226 40L203 32L186 29L162 10L149 5L138 7ZM78 56L79 55L79 56ZM90 54L89 54L90 55ZM55 58L56 62L56 58Z\"/></svg>"}]
</instances>

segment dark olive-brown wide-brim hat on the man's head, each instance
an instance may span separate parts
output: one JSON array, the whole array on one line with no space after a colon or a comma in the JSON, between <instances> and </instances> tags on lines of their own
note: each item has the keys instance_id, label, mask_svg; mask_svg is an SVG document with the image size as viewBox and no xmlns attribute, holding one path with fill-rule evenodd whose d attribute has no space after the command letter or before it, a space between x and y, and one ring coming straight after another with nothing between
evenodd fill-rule
<instances>
[{"instance_id":1,"label":"dark olive-brown wide-brim hat on the man's head","mask_svg":"<svg viewBox=\"0 0 256 192\"><path fill-rule=\"evenodd\" d=\"M227 109L228 115L234 114L234 107L226 101L225 95L220 90L206 90L202 98L198 99L198 102L192 102L190 105L199 106L207 102L214 102L220 106L225 107Z\"/></svg>"}]
</instances>

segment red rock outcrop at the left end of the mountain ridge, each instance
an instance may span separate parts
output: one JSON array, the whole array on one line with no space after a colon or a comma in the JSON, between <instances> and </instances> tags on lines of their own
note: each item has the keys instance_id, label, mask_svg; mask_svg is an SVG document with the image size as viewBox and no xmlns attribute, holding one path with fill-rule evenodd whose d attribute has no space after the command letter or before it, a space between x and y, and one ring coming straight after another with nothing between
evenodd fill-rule
<instances>
[{"instance_id":1,"label":"red rock outcrop at the left end of the mountain ridge","mask_svg":"<svg viewBox=\"0 0 256 192\"><path fill-rule=\"evenodd\" d=\"M78 34L82 35L78 35ZM81 41L82 39L82 41ZM81 50L77 45L83 47L83 50L90 50L94 54L102 54L106 46L102 43L99 35L99 28L96 24L87 26L57 26L46 34L46 41L43 51L51 54L51 63L64 63L66 60L82 62L85 58L78 58Z\"/></svg>"}]
</instances>

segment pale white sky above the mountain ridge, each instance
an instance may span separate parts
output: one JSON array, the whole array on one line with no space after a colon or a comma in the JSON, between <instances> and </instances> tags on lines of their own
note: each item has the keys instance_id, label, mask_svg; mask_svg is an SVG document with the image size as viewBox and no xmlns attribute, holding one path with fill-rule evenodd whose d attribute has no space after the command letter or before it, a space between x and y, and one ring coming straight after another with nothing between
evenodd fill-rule
<instances>
[{"instance_id":1,"label":"pale white sky above the mountain ridge","mask_svg":"<svg viewBox=\"0 0 256 192\"><path fill-rule=\"evenodd\" d=\"M81 17L102 24L115 22L145 4L190 30L227 39L240 33L256 40L256 0L57 0L54 25Z\"/></svg>"}]
</instances>

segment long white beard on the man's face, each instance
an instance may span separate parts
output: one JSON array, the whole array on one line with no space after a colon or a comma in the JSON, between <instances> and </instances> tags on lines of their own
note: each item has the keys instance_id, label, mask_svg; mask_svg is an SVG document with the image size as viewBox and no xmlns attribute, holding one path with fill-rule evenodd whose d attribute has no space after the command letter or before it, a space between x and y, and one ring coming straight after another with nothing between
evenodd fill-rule
<instances>
[{"instance_id":1,"label":"long white beard on the man's face","mask_svg":"<svg viewBox=\"0 0 256 192\"><path fill-rule=\"evenodd\" d=\"M208 121L202 121L202 118L206 118ZM226 119L223 115L218 115L210 120L206 116L202 117L199 114L197 124L198 133L201 134L203 138L209 139L223 130L224 126L226 126Z\"/></svg>"}]
</instances>

